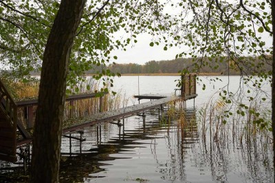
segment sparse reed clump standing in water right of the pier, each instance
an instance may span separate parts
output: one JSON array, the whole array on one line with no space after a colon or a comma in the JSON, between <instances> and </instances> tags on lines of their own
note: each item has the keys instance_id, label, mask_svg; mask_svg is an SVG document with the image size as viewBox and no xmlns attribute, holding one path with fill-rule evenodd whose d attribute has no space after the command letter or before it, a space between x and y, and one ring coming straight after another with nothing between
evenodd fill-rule
<instances>
[{"instance_id":1,"label":"sparse reed clump standing in water right of the pier","mask_svg":"<svg viewBox=\"0 0 275 183\"><path fill-rule=\"evenodd\" d=\"M257 140L272 140L269 130L270 114L270 109L264 108L256 99L250 106L243 107L239 103L228 105L225 100L219 98L211 99L199 109L197 118L205 142L208 139L212 144L223 146L232 141L240 146L248 142L256 143Z\"/></svg>"}]
</instances>

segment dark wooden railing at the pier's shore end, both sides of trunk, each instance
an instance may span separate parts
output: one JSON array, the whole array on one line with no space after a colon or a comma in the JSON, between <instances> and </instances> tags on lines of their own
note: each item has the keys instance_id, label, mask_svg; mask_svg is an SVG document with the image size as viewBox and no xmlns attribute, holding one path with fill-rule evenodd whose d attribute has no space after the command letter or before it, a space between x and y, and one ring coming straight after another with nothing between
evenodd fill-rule
<instances>
[{"instance_id":1,"label":"dark wooden railing at the pier's shore end, both sides of trunk","mask_svg":"<svg viewBox=\"0 0 275 183\"><path fill-rule=\"evenodd\" d=\"M74 101L99 97L99 109L103 111L103 96L107 92L98 92L94 94L79 94L68 96L67 103L73 106ZM0 79L0 160L8 162L17 161L17 148L32 142L32 137L27 129L34 125L34 116L38 100L14 101L7 87ZM26 124L23 125L19 119L19 108L23 108ZM22 111L22 110L21 110ZM74 116L74 110L70 111Z\"/></svg>"}]
</instances>

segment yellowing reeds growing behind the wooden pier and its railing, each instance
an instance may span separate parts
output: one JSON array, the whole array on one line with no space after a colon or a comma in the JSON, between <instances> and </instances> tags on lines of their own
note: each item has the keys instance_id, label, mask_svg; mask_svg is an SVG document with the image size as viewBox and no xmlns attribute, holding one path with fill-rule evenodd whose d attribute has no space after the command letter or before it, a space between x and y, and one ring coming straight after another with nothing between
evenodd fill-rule
<instances>
[{"instance_id":1,"label":"yellowing reeds growing behind the wooden pier and its railing","mask_svg":"<svg viewBox=\"0 0 275 183\"><path fill-rule=\"evenodd\" d=\"M8 82L8 81L7 81ZM111 91L111 83L106 83L102 85L100 80L94 80L93 78L87 78L87 80L75 85L74 87L68 87L70 94L88 94L97 93L101 91L101 88L105 88ZM8 89L12 93L15 100L30 100L36 99L39 94L39 80L32 80L28 83L23 82L8 82ZM121 89L116 95L106 94L103 96L103 111L118 109L123 106L126 107L129 98L126 95L122 95ZM35 116L34 107L34 116ZM85 116L91 116L100 111L100 98L88 98L83 100L74 100L74 102L65 103L64 119L76 119L83 118ZM25 109L23 107L19 108L19 119L26 126L27 120L25 119Z\"/></svg>"}]
</instances>

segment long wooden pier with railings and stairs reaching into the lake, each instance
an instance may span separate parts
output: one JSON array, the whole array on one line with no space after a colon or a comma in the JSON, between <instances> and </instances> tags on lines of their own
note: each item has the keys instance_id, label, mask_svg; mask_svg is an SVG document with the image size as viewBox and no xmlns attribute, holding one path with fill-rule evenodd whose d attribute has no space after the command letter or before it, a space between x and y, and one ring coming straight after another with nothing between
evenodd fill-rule
<instances>
[{"instance_id":1,"label":"long wooden pier with railings and stairs reaching into the lake","mask_svg":"<svg viewBox=\"0 0 275 183\"><path fill-rule=\"evenodd\" d=\"M75 100L100 97L100 110L97 114L86 116L81 119L65 120L63 136L68 137L67 134L76 133L93 125L100 125L102 122L112 122L113 120L120 120L129 116L143 114L144 111L149 109L162 110L164 105L167 103L173 103L176 100L186 101L195 98L197 96L195 77L195 75L183 76L181 78L182 84L180 89L175 89L175 96L153 94L135 96L139 102L142 99L150 99L151 101L121 109L115 109L113 111L103 111L102 98L106 93L69 96L66 101L69 102L70 105L74 105ZM178 90L180 91L179 95L177 95ZM32 128L34 125L34 106L37 105L38 101L14 101L5 85L3 85L0 80L0 102L0 160L16 162L17 149L32 143L32 136L28 133L28 129ZM27 124L25 125L23 125L23 123L18 119L19 107L23 107L25 110L27 118Z\"/></svg>"}]
</instances>

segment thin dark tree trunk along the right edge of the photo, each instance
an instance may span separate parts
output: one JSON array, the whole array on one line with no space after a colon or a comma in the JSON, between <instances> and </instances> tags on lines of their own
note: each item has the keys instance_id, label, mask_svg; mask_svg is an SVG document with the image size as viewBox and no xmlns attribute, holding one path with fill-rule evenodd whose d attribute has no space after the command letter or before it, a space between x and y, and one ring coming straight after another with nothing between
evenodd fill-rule
<instances>
[{"instance_id":1,"label":"thin dark tree trunk along the right edge of the photo","mask_svg":"<svg viewBox=\"0 0 275 183\"><path fill-rule=\"evenodd\" d=\"M272 55L272 136L273 136L273 166L275 168L275 0L271 1L272 14L272 36L273 36L273 55ZM275 174L275 169L274 169ZM274 179L275 182L275 179Z\"/></svg>"}]
</instances>

